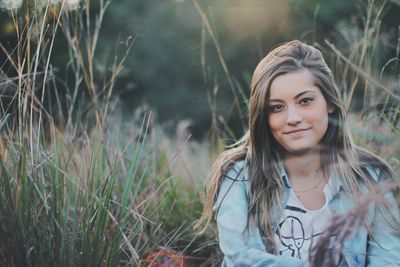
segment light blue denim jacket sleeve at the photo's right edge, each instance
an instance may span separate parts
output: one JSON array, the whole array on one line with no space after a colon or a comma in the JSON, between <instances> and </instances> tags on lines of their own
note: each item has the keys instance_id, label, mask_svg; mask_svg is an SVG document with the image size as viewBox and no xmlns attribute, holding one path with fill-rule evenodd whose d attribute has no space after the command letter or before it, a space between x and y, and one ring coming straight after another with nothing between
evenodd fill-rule
<instances>
[{"instance_id":1,"label":"light blue denim jacket sleeve at the photo's right edge","mask_svg":"<svg viewBox=\"0 0 400 267\"><path fill-rule=\"evenodd\" d=\"M367 266L400 266L400 215L396 198L385 195L386 206L376 205L368 241Z\"/></svg>"}]
</instances>

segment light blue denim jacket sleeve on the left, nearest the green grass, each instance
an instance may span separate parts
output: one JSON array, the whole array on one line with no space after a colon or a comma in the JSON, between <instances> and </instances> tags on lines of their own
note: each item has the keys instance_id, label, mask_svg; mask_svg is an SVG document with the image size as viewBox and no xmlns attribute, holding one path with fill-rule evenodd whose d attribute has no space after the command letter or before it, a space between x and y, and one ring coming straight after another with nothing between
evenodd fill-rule
<instances>
[{"instance_id":1,"label":"light blue denim jacket sleeve on the left, nearest the green grass","mask_svg":"<svg viewBox=\"0 0 400 267\"><path fill-rule=\"evenodd\" d=\"M299 259L266 252L258 229L247 227L248 181L235 179L237 173L234 168L228 171L214 206L223 266L308 266Z\"/></svg>"}]
</instances>

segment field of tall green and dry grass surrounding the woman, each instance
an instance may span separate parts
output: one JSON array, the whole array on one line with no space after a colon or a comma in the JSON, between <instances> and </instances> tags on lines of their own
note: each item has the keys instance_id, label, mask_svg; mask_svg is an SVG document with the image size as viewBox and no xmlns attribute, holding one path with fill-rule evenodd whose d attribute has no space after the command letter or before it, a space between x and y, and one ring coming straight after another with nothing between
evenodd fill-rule
<instances>
[{"instance_id":1,"label":"field of tall green and dry grass surrounding the woman","mask_svg":"<svg viewBox=\"0 0 400 267\"><path fill-rule=\"evenodd\" d=\"M8 97L0 111L0 265L217 266L216 230L198 236L193 225L205 178L231 136L229 128L214 114L211 138L195 142L184 124L180 135L168 137L151 110L123 117L111 96L133 40L115 52L104 76L95 72L98 35L110 4L99 2L98 14L88 13L89 1L80 11L25 4L10 13L19 43L12 50L1 46L15 77L1 81L11 89L3 91ZM379 12L371 11L369 19L366 28L373 29ZM347 103L362 84L365 107L375 107L351 115L357 142L383 155L398 174L400 84L398 67L392 66L399 55L388 63L391 73L388 66L382 69L383 83L373 72L379 33L365 32L350 56L326 46L336 57ZM55 82L62 77L55 77L51 64L56 33L68 44L70 80L63 83ZM242 95L216 40L215 47L232 92ZM55 103L45 103L47 94Z\"/></svg>"}]
</instances>

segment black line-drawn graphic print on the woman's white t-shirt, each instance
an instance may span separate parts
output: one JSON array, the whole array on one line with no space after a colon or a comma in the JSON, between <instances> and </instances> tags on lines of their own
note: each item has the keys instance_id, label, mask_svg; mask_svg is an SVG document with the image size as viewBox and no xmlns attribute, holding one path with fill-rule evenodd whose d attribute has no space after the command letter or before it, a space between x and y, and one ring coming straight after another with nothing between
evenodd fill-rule
<instances>
[{"instance_id":1,"label":"black line-drawn graphic print on the woman's white t-shirt","mask_svg":"<svg viewBox=\"0 0 400 267\"><path fill-rule=\"evenodd\" d=\"M292 215L286 216L280 223L276 234L281 242L279 254L302 259L301 249L309 248L312 239L322 233L308 234L304 229L304 224L300 218L307 213L306 210L294 206L286 206ZM298 213L299 216L296 216Z\"/></svg>"}]
</instances>

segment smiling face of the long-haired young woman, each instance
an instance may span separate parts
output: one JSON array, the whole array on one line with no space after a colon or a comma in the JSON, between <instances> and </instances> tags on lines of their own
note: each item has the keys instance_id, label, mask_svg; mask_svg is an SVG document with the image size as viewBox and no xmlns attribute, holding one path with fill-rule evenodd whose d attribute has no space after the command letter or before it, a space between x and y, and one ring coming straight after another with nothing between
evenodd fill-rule
<instances>
[{"instance_id":1,"label":"smiling face of the long-haired young woman","mask_svg":"<svg viewBox=\"0 0 400 267\"><path fill-rule=\"evenodd\" d=\"M276 77L270 86L268 124L286 153L319 149L328 128L328 107L310 71Z\"/></svg>"}]
</instances>

